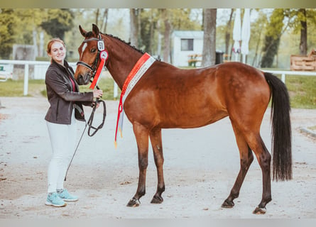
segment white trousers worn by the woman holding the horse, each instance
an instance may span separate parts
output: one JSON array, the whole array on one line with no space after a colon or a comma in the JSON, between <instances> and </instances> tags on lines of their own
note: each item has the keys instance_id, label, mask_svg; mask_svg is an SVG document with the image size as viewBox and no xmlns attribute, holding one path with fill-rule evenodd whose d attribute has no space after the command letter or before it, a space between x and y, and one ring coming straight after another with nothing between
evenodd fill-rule
<instances>
[{"instance_id":1,"label":"white trousers worn by the woman holding the horse","mask_svg":"<svg viewBox=\"0 0 316 227\"><path fill-rule=\"evenodd\" d=\"M64 179L72 155L75 153L77 124L75 110L72 111L71 124L50 123L46 121L53 156L48 165L48 193L64 188Z\"/></svg>"}]
</instances>

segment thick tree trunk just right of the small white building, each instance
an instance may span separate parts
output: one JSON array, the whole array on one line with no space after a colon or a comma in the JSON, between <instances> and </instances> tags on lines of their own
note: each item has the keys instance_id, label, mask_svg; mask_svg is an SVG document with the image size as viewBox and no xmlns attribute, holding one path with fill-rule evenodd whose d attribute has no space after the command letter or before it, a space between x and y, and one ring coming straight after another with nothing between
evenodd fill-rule
<instances>
[{"instance_id":1,"label":"thick tree trunk just right of the small white building","mask_svg":"<svg viewBox=\"0 0 316 227\"><path fill-rule=\"evenodd\" d=\"M201 66L214 65L216 60L216 17L217 9L204 9L203 51Z\"/></svg>"}]
</instances>

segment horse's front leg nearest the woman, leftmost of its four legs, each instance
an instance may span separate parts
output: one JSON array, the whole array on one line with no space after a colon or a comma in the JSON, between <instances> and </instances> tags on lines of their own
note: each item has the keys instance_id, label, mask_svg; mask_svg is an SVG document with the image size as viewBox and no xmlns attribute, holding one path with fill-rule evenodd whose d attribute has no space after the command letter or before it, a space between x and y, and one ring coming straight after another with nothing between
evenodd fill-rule
<instances>
[{"instance_id":1,"label":"horse's front leg nearest the woman, leftmost of its four legs","mask_svg":"<svg viewBox=\"0 0 316 227\"><path fill-rule=\"evenodd\" d=\"M133 130L136 137L138 147L138 187L136 194L129 201L126 206L139 206L141 203L139 199L146 193L146 171L148 166L148 135L149 132L146 127L139 123L133 124Z\"/></svg>"}]
</instances>

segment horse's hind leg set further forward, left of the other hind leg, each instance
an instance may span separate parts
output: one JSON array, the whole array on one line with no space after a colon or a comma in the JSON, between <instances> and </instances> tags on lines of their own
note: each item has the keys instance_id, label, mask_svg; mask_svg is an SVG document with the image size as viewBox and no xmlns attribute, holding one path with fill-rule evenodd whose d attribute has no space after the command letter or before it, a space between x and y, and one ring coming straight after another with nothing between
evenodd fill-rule
<instances>
[{"instance_id":1,"label":"horse's hind leg set further forward, left of the other hind leg","mask_svg":"<svg viewBox=\"0 0 316 227\"><path fill-rule=\"evenodd\" d=\"M233 200L239 196L241 184L244 182L244 178L249 170L249 166L251 165L251 162L254 160L254 155L252 154L252 151L249 148L248 143L246 143L244 135L242 135L239 129L236 128L234 125L233 128L234 133L236 135L236 142L239 148L240 170L229 196L227 197L227 199L225 199L224 203L222 204L223 208L231 208L234 206Z\"/></svg>"}]
</instances>

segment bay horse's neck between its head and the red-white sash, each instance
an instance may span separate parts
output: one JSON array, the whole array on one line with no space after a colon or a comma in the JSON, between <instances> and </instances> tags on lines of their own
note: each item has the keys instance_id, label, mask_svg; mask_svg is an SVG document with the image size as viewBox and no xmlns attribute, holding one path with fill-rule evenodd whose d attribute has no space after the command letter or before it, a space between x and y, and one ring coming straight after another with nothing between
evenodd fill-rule
<instances>
[{"instance_id":1,"label":"bay horse's neck between its head and the red-white sash","mask_svg":"<svg viewBox=\"0 0 316 227\"><path fill-rule=\"evenodd\" d=\"M107 69L116 84L122 89L126 77L142 54L129 45L112 37L109 37L108 43L107 41L105 42L105 45L109 47L109 63Z\"/></svg>"}]
</instances>

